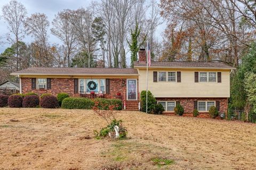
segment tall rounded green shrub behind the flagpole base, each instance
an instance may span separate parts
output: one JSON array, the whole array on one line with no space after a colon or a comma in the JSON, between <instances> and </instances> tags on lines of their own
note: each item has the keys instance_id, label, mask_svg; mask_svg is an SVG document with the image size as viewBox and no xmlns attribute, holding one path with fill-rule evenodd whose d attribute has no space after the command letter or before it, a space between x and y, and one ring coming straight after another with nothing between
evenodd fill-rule
<instances>
[{"instance_id":1,"label":"tall rounded green shrub behind the flagpole base","mask_svg":"<svg viewBox=\"0 0 256 170\"><path fill-rule=\"evenodd\" d=\"M141 108L142 112L146 112L146 90L142 90L140 93L140 100L141 100ZM153 113L156 107L156 99L151 94L150 91L148 91L148 113Z\"/></svg>"}]
</instances>

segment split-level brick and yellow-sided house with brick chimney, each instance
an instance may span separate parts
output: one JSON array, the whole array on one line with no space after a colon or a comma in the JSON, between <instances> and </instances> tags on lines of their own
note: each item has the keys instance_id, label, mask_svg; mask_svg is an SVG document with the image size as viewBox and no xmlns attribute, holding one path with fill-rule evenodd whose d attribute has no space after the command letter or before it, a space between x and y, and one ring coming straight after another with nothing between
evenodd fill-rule
<instances>
[{"instance_id":1,"label":"split-level brick and yellow-sided house with brick chimney","mask_svg":"<svg viewBox=\"0 0 256 170\"><path fill-rule=\"evenodd\" d=\"M210 106L226 113L233 69L215 62L151 62L148 90L166 113L172 113L178 103L185 113L192 113L194 108L207 113ZM21 93L119 98L126 109L138 110L139 94L147 86L146 51L139 51L134 69L31 67L12 75L20 77Z\"/></svg>"}]
</instances>

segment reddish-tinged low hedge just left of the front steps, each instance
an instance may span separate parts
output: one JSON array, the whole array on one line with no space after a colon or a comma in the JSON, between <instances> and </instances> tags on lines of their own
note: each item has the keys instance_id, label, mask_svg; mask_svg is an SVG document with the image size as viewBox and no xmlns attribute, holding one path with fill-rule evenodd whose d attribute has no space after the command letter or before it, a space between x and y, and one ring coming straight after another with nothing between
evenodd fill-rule
<instances>
[{"instance_id":1,"label":"reddish-tinged low hedge just left of the front steps","mask_svg":"<svg viewBox=\"0 0 256 170\"><path fill-rule=\"evenodd\" d=\"M97 108L100 110L109 110L109 106L113 105L115 111L122 110L122 100L119 99L103 99L96 98L94 99L94 103L98 103Z\"/></svg>"}]
</instances>

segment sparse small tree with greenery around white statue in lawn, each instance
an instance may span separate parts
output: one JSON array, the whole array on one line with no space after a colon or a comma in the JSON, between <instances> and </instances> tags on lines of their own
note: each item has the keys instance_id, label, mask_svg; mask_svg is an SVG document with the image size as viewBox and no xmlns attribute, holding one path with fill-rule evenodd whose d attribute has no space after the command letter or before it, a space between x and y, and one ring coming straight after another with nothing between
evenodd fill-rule
<instances>
[{"instance_id":1,"label":"sparse small tree with greenery around white statue in lawn","mask_svg":"<svg viewBox=\"0 0 256 170\"><path fill-rule=\"evenodd\" d=\"M106 104L107 105L107 104ZM102 106L103 108L106 108L107 106ZM114 108L117 107L115 105L109 105L108 110L100 110L99 109L99 102L95 101L95 105L93 107L93 112L102 117L103 120L105 120L108 125L105 128L100 129L98 132L97 130L94 130L95 137L97 139L106 138L109 137L117 137L116 134L119 133L118 139L125 139L127 135L127 130L122 125L122 120L116 120L115 115L116 112L114 111ZM118 128L117 128L118 126Z\"/></svg>"}]
</instances>

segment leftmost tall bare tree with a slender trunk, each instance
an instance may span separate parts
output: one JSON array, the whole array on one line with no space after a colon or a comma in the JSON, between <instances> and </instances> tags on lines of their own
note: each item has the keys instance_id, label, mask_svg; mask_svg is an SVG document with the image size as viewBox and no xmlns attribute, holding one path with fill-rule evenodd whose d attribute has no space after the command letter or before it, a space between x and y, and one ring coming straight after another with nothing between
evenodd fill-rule
<instances>
[{"instance_id":1,"label":"leftmost tall bare tree with a slender trunk","mask_svg":"<svg viewBox=\"0 0 256 170\"><path fill-rule=\"evenodd\" d=\"M24 37L23 32L23 23L25 21L25 16L27 14L27 10L25 6L21 3L12 0L9 4L6 4L2 8L3 18L7 22L7 29L10 33L13 34L14 37L9 36L11 43L16 45L16 70L19 70L19 41Z\"/></svg>"}]
</instances>

